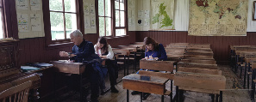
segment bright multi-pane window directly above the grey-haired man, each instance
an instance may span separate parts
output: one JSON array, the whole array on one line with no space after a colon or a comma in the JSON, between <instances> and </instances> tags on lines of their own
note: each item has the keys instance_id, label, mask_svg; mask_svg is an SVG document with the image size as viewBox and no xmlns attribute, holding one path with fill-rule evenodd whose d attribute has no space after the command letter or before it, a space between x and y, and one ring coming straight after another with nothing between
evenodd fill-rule
<instances>
[{"instance_id":1,"label":"bright multi-pane window directly above the grey-haired man","mask_svg":"<svg viewBox=\"0 0 256 102\"><path fill-rule=\"evenodd\" d=\"M50 0L52 40L70 39L69 33L78 29L76 0Z\"/></svg>"}]
</instances>

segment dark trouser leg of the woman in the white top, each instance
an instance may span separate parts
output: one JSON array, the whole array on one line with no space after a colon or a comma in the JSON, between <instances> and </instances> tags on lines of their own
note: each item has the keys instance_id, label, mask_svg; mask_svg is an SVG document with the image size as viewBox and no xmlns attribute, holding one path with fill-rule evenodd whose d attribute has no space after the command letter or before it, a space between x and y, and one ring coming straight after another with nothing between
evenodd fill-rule
<instances>
[{"instance_id":1,"label":"dark trouser leg of the woman in the white top","mask_svg":"<svg viewBox=\"0 0 256 102\"><path fill-rule=\"evenodd\" d=\"M116 68L116 61L115 60L106 60L106 65L109 72L109 81L110 86L115 87L116 79L118 77L118 68Z\"/></svg>"}]
</instances>

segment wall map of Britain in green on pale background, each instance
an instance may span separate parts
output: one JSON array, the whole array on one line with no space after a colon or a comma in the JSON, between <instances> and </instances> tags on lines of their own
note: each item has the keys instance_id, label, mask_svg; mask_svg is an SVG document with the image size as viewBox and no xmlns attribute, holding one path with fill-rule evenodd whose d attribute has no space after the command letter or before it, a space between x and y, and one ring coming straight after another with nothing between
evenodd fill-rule
<instances>
[{"instance_id":1,"label":"wall map of Britain in green on pale background","mask_svg":"<svg viewBox=\"0 0 256 102\"><path fill-rule=\"evenodd\" d=\"M172 30L174 0L151 0L151 29Z\"/></svg>"}]
</instances>

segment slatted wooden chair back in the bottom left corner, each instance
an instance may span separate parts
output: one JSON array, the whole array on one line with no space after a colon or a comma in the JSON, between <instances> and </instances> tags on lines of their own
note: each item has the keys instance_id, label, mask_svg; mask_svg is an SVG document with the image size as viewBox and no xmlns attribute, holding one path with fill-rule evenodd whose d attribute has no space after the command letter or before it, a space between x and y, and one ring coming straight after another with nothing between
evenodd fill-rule
<instances>
[{"instance_id":1,"label":"slatted wooden chair back in the bottom left corner","mask_svg":"<svg viewBox=\"0 0 256 102\"><path fill-rule=\"evenodd\" d=\"M0 93L0 101L9 102L28 102L29 87L32 81L26 81L14 87L10 87Z\"/></svg>"}]
</instances>

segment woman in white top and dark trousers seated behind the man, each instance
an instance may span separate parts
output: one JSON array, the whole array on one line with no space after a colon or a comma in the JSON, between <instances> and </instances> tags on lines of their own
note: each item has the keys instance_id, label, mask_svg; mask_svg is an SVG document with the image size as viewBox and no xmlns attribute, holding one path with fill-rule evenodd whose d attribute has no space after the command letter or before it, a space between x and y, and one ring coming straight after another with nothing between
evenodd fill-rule
<instances>
[{"instance_id":1,"label":"woman in white top and dark trousers seated behind the man","mask_svg":"<svg viewBox=\"0 0 256 102\"><path fill-rule=\"evenodd\" d=\"M116 70L114 68L115 58L114 58L114 52L112 51L111 46L107 43L107 40L103 37L100 37L97 40L97 44L94 45L95 53L102 58L107 58L106 65L109 72L109 81L111 86L111 93L118 93L118 90L116 89L116 79L117 74L115 73Z\"/></svg>"}]
</instances>

